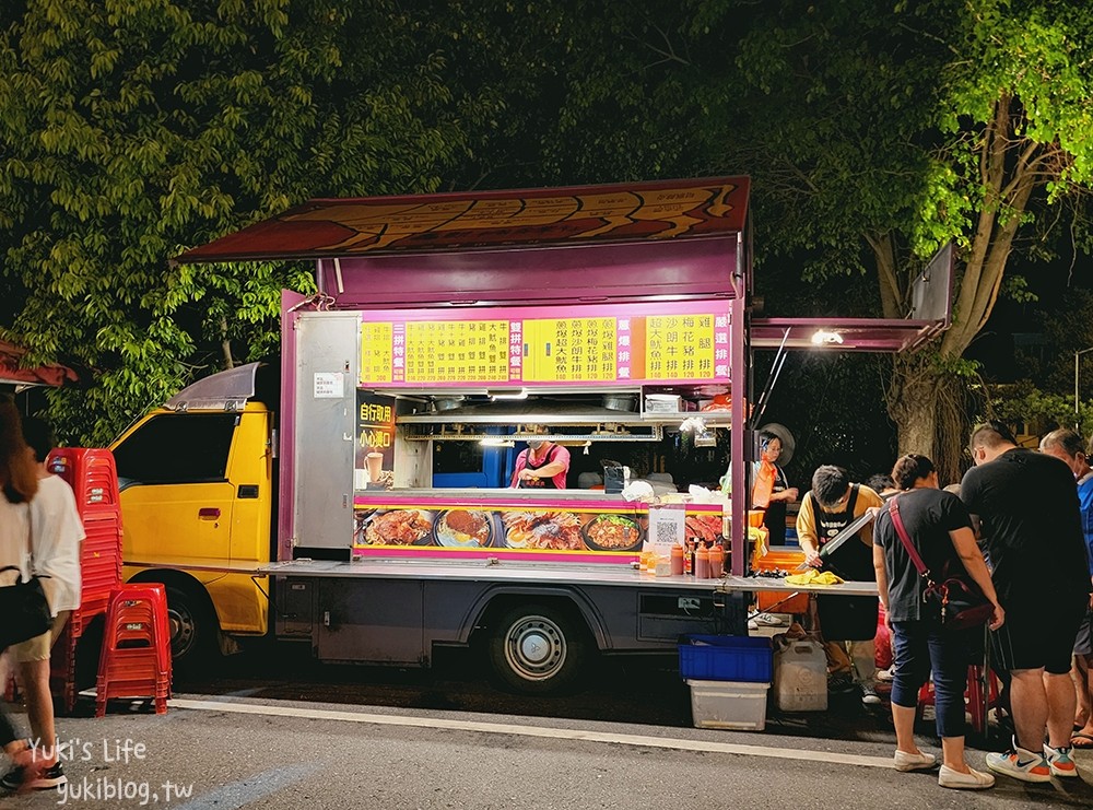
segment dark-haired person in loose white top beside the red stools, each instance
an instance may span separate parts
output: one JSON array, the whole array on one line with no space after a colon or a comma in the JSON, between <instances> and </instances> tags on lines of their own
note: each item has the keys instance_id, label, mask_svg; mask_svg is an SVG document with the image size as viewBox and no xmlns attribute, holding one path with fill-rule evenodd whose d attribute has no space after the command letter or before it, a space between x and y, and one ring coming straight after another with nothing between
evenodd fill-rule
<instances>
[{"instance_id":1,"label":"dark-haired person in loose white top beside the red stools","mask_svg":"<svg viewBox=\"0 0 1093 810\"><path fill-rule=\"evenodd\" d=\"M54 625L42 635L13 646L12 655L26 694L32 743L47 766L32 787L44 789L67 782L57 759L49 656L69 614L80 607L80 543L84 531L72 488L46 470L46 457L54 448L52 431L42 420L25 418L23 437L34 454L38 477L38 492L31 500L31 573L43 577L42 587L49 600ZM13 775L5 776L0 785L7 787L15 779Z\"/></svg>"}]
</instances>

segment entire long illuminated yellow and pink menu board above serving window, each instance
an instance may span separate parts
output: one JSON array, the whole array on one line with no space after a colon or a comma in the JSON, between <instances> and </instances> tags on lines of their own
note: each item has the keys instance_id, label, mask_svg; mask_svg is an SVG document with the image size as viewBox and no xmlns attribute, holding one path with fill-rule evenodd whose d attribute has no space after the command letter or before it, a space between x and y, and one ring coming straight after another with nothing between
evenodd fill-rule
<instances>
[{"instance_id":1,"label":"entire long illuminated yellow and pink menu board above serving window","mask_svg":"<svg viewBox=\"0 0 1093 810\"><path fill-rule=\"evenodd\" d=\"M729 317L721 302L479 313L490 317L438 319L435 310L362 313L368 320L361 325L361 384L593 385L729 378Z\"/></svg>"}]
</instances>

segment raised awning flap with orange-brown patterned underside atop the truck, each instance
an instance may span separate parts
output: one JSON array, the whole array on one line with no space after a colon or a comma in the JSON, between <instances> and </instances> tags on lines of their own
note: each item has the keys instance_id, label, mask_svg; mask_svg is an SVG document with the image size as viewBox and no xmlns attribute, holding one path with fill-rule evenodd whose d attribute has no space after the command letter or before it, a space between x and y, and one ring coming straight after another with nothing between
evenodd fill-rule
<instances>
[{"instance_id":1,"label":"raised awning flap with orange-brown patterned underside atop the truck","mask_svg":"<svg viewBox=\"0 0 1093 810\"><path fill-rule=\"evenodd\" d=\"M750 179L315 199L192 248L178 262L587 246L743 231Z\"/></svg>"}]
</instances>

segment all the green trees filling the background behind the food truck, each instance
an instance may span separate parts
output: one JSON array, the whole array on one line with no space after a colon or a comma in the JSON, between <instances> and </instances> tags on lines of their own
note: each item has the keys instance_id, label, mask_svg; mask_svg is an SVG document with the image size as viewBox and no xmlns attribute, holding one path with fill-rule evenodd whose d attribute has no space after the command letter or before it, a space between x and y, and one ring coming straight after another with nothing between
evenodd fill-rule
<instances>
[{"instance_id":1,"label":"all the green trees filling the background behind the food truck","mask_svg":"<svg viewBox=\"0 0 1093 810\"><path fill-rule=\"evenodd\" d=\"M953 328L889 389L926 451L1012 254L1093 244L1082 0L26 0L0 26L0 322L96 371L55 395L84 439L273 348L302 268L166 260L310 196L747 173L772 315L902 317L952 239ZM823 312L764 289L777 265Z\"/></svg>"}]
</instances>

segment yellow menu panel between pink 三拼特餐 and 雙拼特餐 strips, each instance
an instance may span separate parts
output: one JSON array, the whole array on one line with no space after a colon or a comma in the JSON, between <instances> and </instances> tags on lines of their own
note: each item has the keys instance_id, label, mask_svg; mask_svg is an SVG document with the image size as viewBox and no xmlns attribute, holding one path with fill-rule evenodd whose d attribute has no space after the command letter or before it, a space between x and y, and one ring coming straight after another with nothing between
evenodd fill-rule
<instances>
[{"instance_id":1,"label":"yellow menu panel between pink \u4e09\u62fc\u7279\u9910 and \u96d9\u62fc\u7279\u9910 strips","mask_svg":"<svg viewBox=\"0 0 1093 810\"><path fill-rule=\"evenodd\" d=\"M406 325L407 383L507 383L507 320Z\"/></svg>"}]
</instances>

